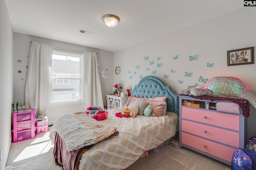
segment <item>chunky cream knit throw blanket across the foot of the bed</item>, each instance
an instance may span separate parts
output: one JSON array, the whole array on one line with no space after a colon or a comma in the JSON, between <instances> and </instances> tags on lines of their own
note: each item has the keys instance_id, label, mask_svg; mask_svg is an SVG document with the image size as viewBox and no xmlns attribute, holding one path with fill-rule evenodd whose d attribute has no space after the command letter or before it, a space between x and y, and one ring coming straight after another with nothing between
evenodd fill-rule
<instances>
[{"instance_id":1,"label":"chunky cream knit throw blanket across the foot of the bed","mask_svg":"<svg viewBox=\"0 0 256 170\"><path fill-rule=\"evenodd\" d=\"M116 127L105 125L86 113L77 112L57 119L50 130L50 135L57 131L65 141L68 152L96 144L110 136L118 135ZM51 139L53 142L54 139Z\"/></svg>"}]
</instances>

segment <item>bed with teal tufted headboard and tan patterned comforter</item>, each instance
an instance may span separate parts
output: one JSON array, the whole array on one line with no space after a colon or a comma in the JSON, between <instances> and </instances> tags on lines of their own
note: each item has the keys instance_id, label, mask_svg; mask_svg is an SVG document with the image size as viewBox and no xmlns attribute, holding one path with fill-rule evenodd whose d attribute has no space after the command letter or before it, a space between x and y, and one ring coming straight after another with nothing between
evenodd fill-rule
<instances>
[{"instance_id":1,"label":"bed with teal tufted headboard and tan patterned comforter","mask_svg":"<svg viewBox=\"0 0 256 170\"><path fill-rule=\"evenodd\" d=\"M50 130L50 139L54 143L53 155L56 163L60 164L64 170L123 170L128 168L145 151L154 149L166 140L174 138L178 131L178 95L159 78L154 76L142 78L134 86L130 98L159 100L160 97L166 97L165 114L155 117L144 115L137 115L134 118L117 117L116 113L120 113L121 109L109 109L108 118L98 122L109 126L107 132L112 132L112 134L102 141L80 149L69 150L70 152L66 147L66 145L69 146L67 139L65 137L62 139L57 130L68 128L66 125L69 124L69 120L54 123ZM70 115L74 114L76 113ZM78 115L86 114L78 113ZM62 127L57 127L57 125ZM72 131L69 134L72 134ZM79 133L79 135L83 134ZM72 145L74 145L73 142L71 142Z\"/></svg>"}]
</instances>

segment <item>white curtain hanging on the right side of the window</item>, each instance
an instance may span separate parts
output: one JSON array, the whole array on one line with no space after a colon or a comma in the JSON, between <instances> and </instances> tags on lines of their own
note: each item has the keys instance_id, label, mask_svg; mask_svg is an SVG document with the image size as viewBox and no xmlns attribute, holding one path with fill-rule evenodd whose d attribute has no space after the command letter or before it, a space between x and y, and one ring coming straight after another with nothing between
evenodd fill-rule
<instances>
[{"instance_id":1,"label":"white curtain hanging on the right side of the window","mask_svg":"<svg viewBox=\"0 0 256 170\"><path fill-rule=\"evenodd\" d=\"M84 52L84 72L85 108L99 106L103 109L104 106L96 53Z\"/></svg>"}]
</instances>

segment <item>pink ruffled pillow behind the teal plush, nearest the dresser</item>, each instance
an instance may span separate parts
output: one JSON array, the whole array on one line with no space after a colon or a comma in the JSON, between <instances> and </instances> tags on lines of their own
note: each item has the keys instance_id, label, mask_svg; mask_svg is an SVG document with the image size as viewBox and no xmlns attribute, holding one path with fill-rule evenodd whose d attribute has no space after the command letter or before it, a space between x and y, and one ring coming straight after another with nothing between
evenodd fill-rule
<instances>
[{"instance_id":1,"label":"pink ruffled pillow behind the teal plush, nearest the dresser","mask_svg":"<svg viewBox=\"0 0 256 170\"><path fill-rule=\"evenodd\" d=\"M148 102L149 105L152 106L152 112L150 116L161 116L164 113L164 110L166 112L166 102L163 101L162 98L166 97L156 97L156 98L144 98L145 102Z\"/></svg>"}]
</instances>

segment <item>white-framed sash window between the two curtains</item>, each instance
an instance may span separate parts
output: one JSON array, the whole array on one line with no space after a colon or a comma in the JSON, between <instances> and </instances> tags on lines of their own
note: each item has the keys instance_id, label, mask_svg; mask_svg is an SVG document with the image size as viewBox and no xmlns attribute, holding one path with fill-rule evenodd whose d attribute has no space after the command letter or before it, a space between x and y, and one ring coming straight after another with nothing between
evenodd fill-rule
<instances>
[{"instance_id":1,"label":"white-framed sash window between the two curtains","mask_svg":"<svg viewBox=\"0 0 256 170\"><path fill-rule=\"evenodd\" d=\"M50 104L83 101L83 54L54 49Z\"/></svg>"}]
</instances>

